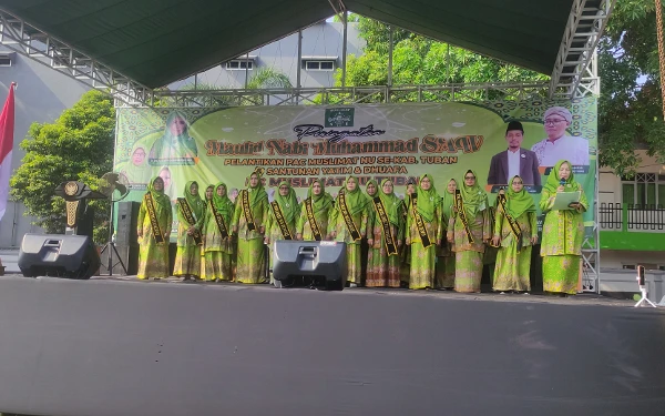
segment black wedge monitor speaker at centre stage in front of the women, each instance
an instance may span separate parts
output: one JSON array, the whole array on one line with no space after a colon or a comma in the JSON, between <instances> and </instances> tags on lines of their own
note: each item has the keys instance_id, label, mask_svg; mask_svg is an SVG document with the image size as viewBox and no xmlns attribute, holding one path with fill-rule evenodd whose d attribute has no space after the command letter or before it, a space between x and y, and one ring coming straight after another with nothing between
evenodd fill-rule
<instances>
[{"instance_id":1,"label":"black wedge monitor speaker at centre stage in front of the women","mask_svg":"<svg viewBox=\"0 0 665 416\"><path fill-rule=\"evenodd\" d=\"M327 287L346 285L345 243L278 240L272 254L276 286L298 276L323 277Z\"/></svg>"}]
</instances>

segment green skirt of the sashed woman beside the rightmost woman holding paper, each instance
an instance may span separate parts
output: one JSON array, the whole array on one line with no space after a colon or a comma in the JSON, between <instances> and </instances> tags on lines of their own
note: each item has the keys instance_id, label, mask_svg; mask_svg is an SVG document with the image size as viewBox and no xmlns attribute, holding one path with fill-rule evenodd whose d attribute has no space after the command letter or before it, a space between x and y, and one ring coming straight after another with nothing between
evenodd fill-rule
<instances>
[{"instance_id":1,"label":"green skirt of the sashed woman beside the rightmost woman holding paper","mask_svg":"<svg viewBox=\"0 0 665 416\"><path fill-rule=\"evenodd\" d=\"M531 291L531 246L522 247L518 253L515 241L499 250L497 266L492 280L492 288L497 292Z\"/></svg>"}]
</instances>

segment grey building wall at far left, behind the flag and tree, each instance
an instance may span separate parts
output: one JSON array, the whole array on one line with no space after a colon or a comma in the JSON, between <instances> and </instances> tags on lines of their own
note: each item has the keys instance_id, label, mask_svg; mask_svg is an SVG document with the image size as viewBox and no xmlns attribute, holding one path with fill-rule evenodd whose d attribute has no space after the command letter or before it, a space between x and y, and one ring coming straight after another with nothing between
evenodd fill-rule
<instances>
[{"instance_id":1,"label":"grey building wall at far left, behind the flag and tree","mask_svg":"<svg viewBox=\"0 0 665 416\"><path fill-rule=\"evenodd\" d=\"M7 50L0 49L1 52ZM13 54L11 67L0 67L0 104L4 104L9 85L17 82L14 145L12 171L21 164L24 152L19 148L33 122L52 122L73 105L86 87L25 57ZM31 225L33 219L23 216L21 203L9 202L0 221L0 248L18 247L23 234L39 232Z\"/></svg>"}]
</instances>

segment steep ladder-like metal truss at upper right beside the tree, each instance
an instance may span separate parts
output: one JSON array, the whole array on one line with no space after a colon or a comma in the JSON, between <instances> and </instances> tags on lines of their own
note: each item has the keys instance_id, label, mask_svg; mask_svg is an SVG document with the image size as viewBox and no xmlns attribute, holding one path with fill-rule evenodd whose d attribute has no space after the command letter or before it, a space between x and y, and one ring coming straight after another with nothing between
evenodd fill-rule
<instances>
[{"instance_id":1,"label":"steep ladder-like metal truss at upper right beside the tree","mask_svg":"<svg viewBox=\"0 0 665 416\"><path fill-rule=\"evenodd\" d=\"M600 94L596 47L616 0L574 0L550 81L550 98Z\"/></svg>"}]
</instances>

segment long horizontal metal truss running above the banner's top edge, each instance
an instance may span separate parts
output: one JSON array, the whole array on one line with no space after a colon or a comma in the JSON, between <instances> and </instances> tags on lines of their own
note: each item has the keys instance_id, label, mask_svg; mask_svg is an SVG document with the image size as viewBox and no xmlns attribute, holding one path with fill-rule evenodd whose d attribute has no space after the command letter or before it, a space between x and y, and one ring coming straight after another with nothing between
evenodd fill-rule
<instances>
[{"instance_id":1,"label":"long horizontal metal truss running above the banner's top edge","mask_svg":"<svg viewBox=\"0 0 665 416\"><path fill-rule=\"evenodd\" d=\"M482 102L488 100L543 99L549 83L458 83L443 85L377 85L347 88L291 88L269 90L155 90L149 105L224 106L224 105L316 105L374 104L399 102ZM132 103L129 103L132 105ZM123 100L116 105L123 106Z\"/></svg>"}]
</instances>

